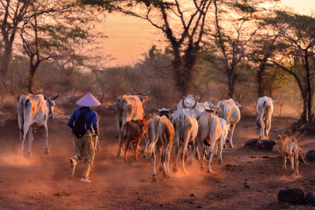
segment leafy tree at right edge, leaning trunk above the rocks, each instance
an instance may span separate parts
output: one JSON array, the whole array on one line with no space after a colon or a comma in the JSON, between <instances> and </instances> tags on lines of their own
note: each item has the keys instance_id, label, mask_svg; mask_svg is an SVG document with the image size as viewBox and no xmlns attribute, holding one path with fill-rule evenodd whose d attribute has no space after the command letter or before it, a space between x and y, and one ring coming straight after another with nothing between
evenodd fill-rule
<instances>
[{"instance_id":1,"label":"leafy tree at right edge, leaning trunk above the rocks","mask_svg":"<svg viewBox=\"0 0 315 210\"><path fill-rule=\"evenodd\" d=\"M311 108L314 93L315 16L276 10L267 21L273 34L266 34L266 37L275 38L281 47L267 61L295 78L303 101L301 123L304 124L307 119L311 121L314 117Z\"/></svg>"}]
</instances>

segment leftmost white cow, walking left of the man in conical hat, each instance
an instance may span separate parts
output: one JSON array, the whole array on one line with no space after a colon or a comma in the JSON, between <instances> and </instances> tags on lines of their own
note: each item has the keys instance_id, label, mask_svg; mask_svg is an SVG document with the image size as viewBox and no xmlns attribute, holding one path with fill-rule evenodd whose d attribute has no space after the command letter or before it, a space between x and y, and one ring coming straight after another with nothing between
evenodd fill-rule
<instances>
[{"instance_id":1,"label":"leftmost white cow, walking left of the man in conical hat","mask_svg":"<svg viewBox=\"0 0 315 210\"><path fill-rule=\"evenodd\" d=\"M43 94L22 94L17 104L18 123L20 128L20 141L22 155L24 155L24 141L27 131L29 131L29 149L27 156L31 156L31 142L33 141L33 130L38 129L43 133L45 139L45 154L49 154L48 149L48 127L47 119L55 118L55 102L59 95L46 98Z\"/></svg>"}]
</instances>

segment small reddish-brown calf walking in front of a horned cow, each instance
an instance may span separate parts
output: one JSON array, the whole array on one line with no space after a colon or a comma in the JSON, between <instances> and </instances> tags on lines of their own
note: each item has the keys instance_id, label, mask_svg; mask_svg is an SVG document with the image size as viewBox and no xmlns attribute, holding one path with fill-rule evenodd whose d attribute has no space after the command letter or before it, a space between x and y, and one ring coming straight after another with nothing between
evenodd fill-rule
<instances>
[{"instance_id":1,"label":"small reddish-brown calf walking in front of a horned cow","mask_svg":"<svg viewBox=\"0 0 315 210\"><path fill-rule=\"evenodd\" d=\"M146 127L148 124L148 119L142 120L130 120L123 125L123 130L121 132L120 148L123 146L123 140L127 140L125 146L125 157L124 160L127 161L127 150L130 143L134 146L134 160L138 158L138 147L142 137L146 134Z\"/></svg>"}]
</instances>

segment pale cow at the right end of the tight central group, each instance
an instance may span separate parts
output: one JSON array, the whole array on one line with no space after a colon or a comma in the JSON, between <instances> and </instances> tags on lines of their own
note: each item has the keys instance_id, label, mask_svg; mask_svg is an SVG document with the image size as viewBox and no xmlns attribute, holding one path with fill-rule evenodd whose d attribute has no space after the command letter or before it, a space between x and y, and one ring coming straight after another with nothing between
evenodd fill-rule
<instances>
[{"instance_id":1,"label":"pale cow at the right end of the tight central group","mask_svg":"<svg viewBox=\"0 0 315 210\"><path fill-rule=\"evenodd\" d=\"M220 118L223 118L225 120L230 120L232 123L230 124L230 144L229 147L232 148L232 137L233 132L235 129L235 125L239 123L239 120L241 119L241 112L239 111L239 106L241 106L238 102L241 99L239 96L239 99L235 102L233 99L229 98L228 100L223 100L218 102L216 106L220 107L220 111L218 111L218 116Z\"/></svg>"}]
</instances>

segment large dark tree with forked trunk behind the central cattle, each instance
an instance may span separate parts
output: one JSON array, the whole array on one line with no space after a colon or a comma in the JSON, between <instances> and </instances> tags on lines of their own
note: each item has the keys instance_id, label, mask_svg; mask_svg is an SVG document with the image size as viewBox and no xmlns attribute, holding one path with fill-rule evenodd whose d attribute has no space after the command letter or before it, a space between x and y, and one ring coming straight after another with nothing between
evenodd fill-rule
<instances>
[{"instance_id":1,"label":"large dark tree with forked trunk behind the central cattle","mask_svg":"<svg viewBox=\"0 0 315 210\"><path fill-rule=\"evenodd\" d=\"M205 23L212 0L82 2L147 20L161 31L172 48L172 76L176 88L181 94L188 93L197 62L197 52L203 47Z\"/></svg>"}]
</instances>

